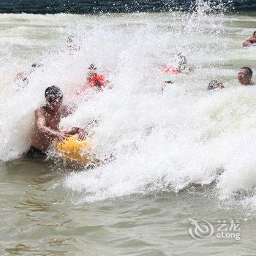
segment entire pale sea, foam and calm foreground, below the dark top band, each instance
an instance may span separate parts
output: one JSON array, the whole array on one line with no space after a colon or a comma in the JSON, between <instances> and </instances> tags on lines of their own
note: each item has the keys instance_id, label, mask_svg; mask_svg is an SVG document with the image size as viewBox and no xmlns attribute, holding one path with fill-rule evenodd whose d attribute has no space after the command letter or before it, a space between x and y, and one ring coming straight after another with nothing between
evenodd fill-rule
<instances>
[{"instance_id":1,"label":"entire pale sea, foam and calm foreground, below the dark top band","mask_svg":"<svg viewBox=\"0 0 256 256\"><path fill-rule=\"evenodd\" d=\"M256 71L256 48L241 48L255 13L0 21L1 255L255 255L256 88L236 80L240 67ZM70 34L80 50L67 49ZM180 51L195 72L162 75ZM14 82L34 62L43 66L29 83ZM91 62L113 89L77 99ZM206 91L214 78L225 89ZM72 170L22 157L52 84L65 104L78 105L61 127L97 120L95 154L113 154L112 162ZM210 222L214 233L192 238L189 219ZM219 220L239 239L218 238ZM235 221L240 230L230 227Z\"/></svg>"}]
</instances>

